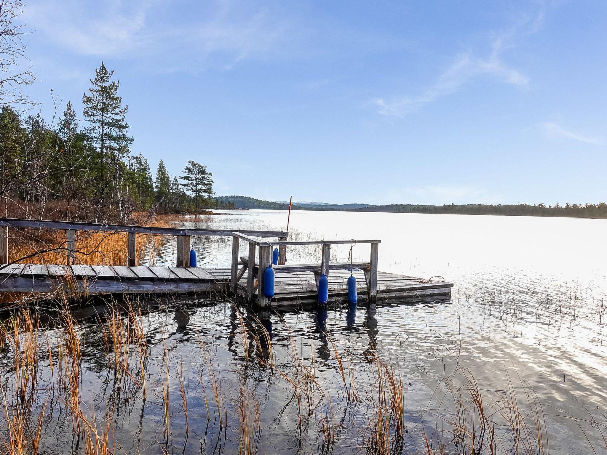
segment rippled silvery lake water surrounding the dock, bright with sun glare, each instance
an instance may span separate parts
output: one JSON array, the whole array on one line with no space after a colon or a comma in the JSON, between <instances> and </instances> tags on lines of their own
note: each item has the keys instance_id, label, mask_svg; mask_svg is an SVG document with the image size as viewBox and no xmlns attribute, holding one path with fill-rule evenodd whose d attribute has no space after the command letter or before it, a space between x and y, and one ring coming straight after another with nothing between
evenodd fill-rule
<instances>
[{"instance_id":1,"label":"rippled silvery lake water surrounding the dock, bright with sun glare","mask_svg":"<svg viewBox=\"0 0 607 455\"><path fill-rule=\"evenodd\" d=\"M286 223L285 211L229 211L180 224ZM113 453L427 453L426 440L432 453L607 453L607 220L295 211L290 232L380 239L379 270L442 276L452 300L253 314L211 299L144 311L145 386L109 365L98 317L83 309L80 409ZM194 245L199 266L229 266L230 239ZM354 246L354 260L368 249ZM319 254L293 247L287 258ZM173 256L168 241L150 260ZM59 351L64 332L51 324L39 338ZM53 403L44 450L85 453L39 357L33 413ZM10 358L0 364L9 382ZM390 420L391 375L402 431Z\"/></svg>"}]
</instances>

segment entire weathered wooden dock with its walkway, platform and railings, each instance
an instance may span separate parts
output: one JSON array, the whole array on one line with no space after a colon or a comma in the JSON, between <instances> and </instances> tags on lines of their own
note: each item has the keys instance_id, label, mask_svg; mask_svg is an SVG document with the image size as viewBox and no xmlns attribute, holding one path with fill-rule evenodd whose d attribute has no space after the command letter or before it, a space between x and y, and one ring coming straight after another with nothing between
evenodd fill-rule
<instances>
[{"instance_id":1,"label":"entire weathered wooden dock with its walkway, platform and railings","mask_svg":"<svg viewBox=\"0 0 607 455\"><path fill-rule=\"evenodd\" d=\"M66 229L66 262L59 264L8 263L8 228ZM75 264L77 231L126 232L129 255L126 265ZM135 234L177 236L176 266L135 265ZM331 263L331 244L352 243L353 240L288 241L282 231L222 231L214 229L178 229L167 227L123 226L115 224L66 223L0 218L0 293L24 292L52 294L208 294L216 292L242 298L262 307L310 305L317 302L317 282L321 274L329 278L331 303L347 302L347 280L350 268L357 280L362 300L376 302L398 298L449 298L452 283L423 280L418 277L379 272L377 269L379 240L356 240L370 244L370 260L354 263ZM230 268L194 268L189 266L192 235L229 235L232 237ZM277 238L278 240L270 240ZM248 243L248 256L239 257L240 241ZM317 244L322 246L319 264L287 264L288 245ZM263 289L265 271L271 265L273 248L279 249L275 272L275 294L268 299ZM132 254L131 254L132 252ZM250 266L253 264L253 266ZM261 266L260 266L261 265Z\"/></svg>"}]
</instances>

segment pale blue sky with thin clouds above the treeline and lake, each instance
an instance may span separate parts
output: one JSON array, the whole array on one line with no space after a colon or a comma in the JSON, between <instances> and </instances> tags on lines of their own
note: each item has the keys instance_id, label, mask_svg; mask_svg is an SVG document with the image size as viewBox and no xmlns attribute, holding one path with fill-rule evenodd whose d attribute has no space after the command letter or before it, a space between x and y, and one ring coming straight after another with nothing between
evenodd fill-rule
<instances>
[{"instance_id":1,"label":"pale blue sky with thin clouds above the treeline and lake","mask_svg":"<svg viewBox=\"0 0 607 455\"><path fill-rule=\"evenodd\" d=\"M115 70L134 153L217 195L607 201L607 2L30 0L52 114Z\"/></svg>"}]
</instances>

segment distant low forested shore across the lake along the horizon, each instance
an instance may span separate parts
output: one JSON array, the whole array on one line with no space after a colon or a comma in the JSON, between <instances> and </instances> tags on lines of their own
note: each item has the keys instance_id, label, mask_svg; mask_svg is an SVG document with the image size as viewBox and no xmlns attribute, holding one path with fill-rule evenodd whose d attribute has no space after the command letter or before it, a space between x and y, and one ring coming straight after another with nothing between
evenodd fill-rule
<instances>
[{"instance_id":1,"label":"distant low forested shore across the lake along the horizon","mask_svg":"<svg viewBox=\"0 0 607 455\"><path fill-rule=\"evenodd\" d=\"M222 196L214 198L218 208L231 204L236 209L287 210L288 203L264 201L246 196ZM388 212L405 214L447 214L447 215L510 215L520 217L561 217L561 218L602 218L607 219L607 204L326 204L294 203L292 210L345 211L345 212ZM356 207L351 207L356 206Z\"/></svg>"}]
</instances>

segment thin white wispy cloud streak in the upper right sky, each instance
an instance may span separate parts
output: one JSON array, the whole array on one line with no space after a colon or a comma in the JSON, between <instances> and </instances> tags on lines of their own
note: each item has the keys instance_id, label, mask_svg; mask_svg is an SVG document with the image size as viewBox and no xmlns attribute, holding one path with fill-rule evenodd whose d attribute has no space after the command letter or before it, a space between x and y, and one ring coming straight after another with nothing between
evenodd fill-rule
<instances>
[{"instance_id":1,"label":"thin white wispy cloud streak in the upper right sky","mask_svg":"<svg viewBox=\"0 0 607 455\"><path fill-rule=\"evenodd\" d=\"M464 84L479 76L490 76L500 83L526 87L529 78L507 64L504 61L504 53L514 48L515 43L524 36L537 32L543 19L542 9L533 18L525 16L509 29L490 33L490 52L487 55L478 56L478 52L472 49L459 53L453 63L420 95L375 98L372 102L378 106L378 112L382 115L403 117L436 99L455 93Z\"/></svg>"}]
</instances>

